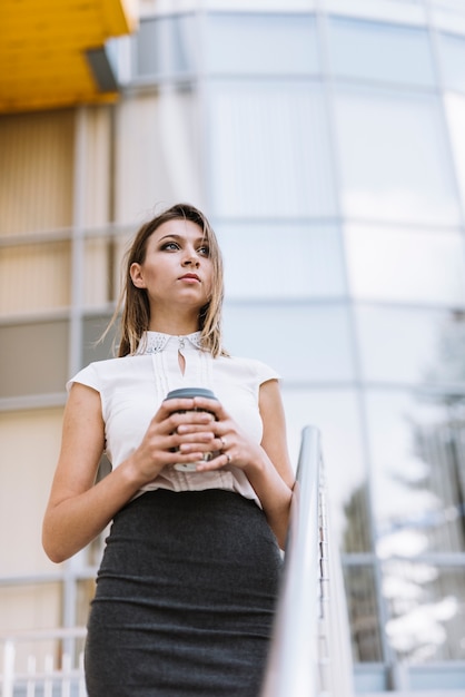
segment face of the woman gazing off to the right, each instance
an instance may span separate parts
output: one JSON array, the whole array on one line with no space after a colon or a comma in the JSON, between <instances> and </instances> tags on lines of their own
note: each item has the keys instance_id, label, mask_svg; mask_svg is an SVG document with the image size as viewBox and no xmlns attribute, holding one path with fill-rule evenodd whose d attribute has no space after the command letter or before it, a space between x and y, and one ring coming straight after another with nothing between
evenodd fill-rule
<instances>
[{"instance_id":1,"label":"face of the woman gazing off to the right","mask_svg":"<svg viewBox=\"0 0 465 697\"><path fill-rule=\"evenodd\" d=\"M132 283L146 288L150 306L179 305L198 312L211 296L212 263L202 229L191 220L168 220L147 240L142 264L132 264Z\"/></svg>"}]
</instances>

